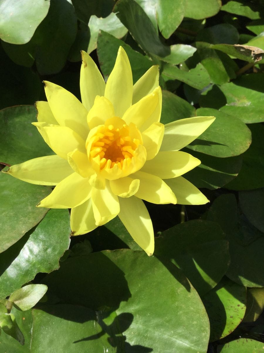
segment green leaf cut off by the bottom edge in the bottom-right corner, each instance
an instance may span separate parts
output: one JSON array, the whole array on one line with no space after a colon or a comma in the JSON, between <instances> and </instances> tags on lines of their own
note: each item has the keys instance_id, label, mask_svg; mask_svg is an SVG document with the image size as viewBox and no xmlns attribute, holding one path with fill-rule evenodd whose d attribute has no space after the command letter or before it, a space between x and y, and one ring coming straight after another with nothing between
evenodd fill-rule
<instances>
[{"instance_id":1,"label":"green leaf cut off by the bottom edge in the bottom-right corner","mask_svg":"<svg viewBox=\"0 0 264 353\"><path fill-rule=\"evenodd\" d=\"M263 342L251 340L249 338L240 338L236 341L225 343L217 347L217 353L262 353Z\"/></svg>"}]
</instances>

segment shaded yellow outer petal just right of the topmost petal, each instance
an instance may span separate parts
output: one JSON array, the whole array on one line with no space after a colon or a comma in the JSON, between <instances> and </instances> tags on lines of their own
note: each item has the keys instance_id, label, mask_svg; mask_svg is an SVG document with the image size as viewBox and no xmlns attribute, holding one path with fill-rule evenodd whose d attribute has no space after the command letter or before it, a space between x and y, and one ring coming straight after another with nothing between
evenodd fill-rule
<instances>
[{"instance_id":1,"label":"shaded yellow outer petal just right of the topmost petal","mask_svg":"<svg viewBox=\"0 0 264 353\"><path fill-rule=\"evenodd\" d=\"M132 104L150 94L159 85L159 66L151 66L134 84Z\"/></svg>"}]
</instances>

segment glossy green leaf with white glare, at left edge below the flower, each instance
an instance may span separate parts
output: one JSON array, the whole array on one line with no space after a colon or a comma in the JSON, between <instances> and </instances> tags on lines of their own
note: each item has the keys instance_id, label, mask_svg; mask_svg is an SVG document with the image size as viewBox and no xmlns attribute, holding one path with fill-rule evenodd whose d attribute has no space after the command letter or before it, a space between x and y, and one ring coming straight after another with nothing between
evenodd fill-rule
<instances>
[{"instance_id":1,"label":"glossy green leaf with white glare, at left edge below the flower","mask_svg":"<svg viewBox=\"0 0 264 353\"><path fill-rule=\"evenodd\" d=\"M69 244L68 210L50 210L36 228L0 254L0 297L5 298L33 280L38 272L58 269L59 258Z\"/></svg>"}]
</instances>

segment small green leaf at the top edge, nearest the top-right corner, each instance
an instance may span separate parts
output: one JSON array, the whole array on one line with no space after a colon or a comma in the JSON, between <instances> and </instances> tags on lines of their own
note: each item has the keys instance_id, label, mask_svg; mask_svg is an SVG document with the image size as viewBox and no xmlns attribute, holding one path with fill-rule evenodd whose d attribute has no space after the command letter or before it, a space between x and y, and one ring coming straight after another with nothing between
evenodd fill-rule
<instances>
[{"instance_id":1,"label":"small green leaf at the top edge, nearest the top-right corner","mask_svg":"<svg viewBox=\"0 0 264 353\"><path fill-rule=\"evenodd\" d=\"M228 1L227 4L222 6L221 10L245 16L252 20L261 18L261 7L253 2L249 4L246 0Z\"/></svg>"}]
</instances>

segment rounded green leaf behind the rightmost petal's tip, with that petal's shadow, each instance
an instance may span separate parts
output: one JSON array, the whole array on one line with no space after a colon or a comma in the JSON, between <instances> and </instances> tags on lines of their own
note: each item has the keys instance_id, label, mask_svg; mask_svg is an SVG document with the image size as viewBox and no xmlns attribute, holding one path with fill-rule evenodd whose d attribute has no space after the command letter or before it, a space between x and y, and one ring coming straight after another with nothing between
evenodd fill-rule
<instances>
[{"instance_id":1,"label":"rounded green leaf behind the rightmost petal's tip, with that petal's shadow","mask_svg":"<svg viewBox=\"0 0 264 353\"><path fill-rule=\"evenodd\" d=\"M215 157L233 157L249 148L251 132L241 120L211 108L199 108L196 115L215 116L216 119L188 145L189 149Z\"/></svg>"}]
</instances>

